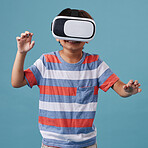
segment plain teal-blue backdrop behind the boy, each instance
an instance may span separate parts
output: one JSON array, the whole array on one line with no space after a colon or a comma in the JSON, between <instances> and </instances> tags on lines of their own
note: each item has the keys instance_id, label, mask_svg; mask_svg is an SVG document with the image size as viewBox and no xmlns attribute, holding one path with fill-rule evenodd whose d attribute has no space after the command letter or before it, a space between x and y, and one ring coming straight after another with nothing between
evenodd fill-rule
<instances>
[{"instance_id":1,"label":"plain teal-blue backdrop behind the boy","mask_svg":"<svg viewBox=\"0 0 148 148\"><path fill-rule=\"evenodd\" d=\"M63 9L86 10L97 24L95 39L84 51L99 54L127 83L138 79L142 92L121 98L99 91L95 125L99 148L148 147L148 1L147 0L1 0L0 4L0 147L40 148L37 87L13 88L11 71L16 36L33 32L34 48L24 68L44 52L60 50L50 23Z\"/></svg>"}]
</instances>

